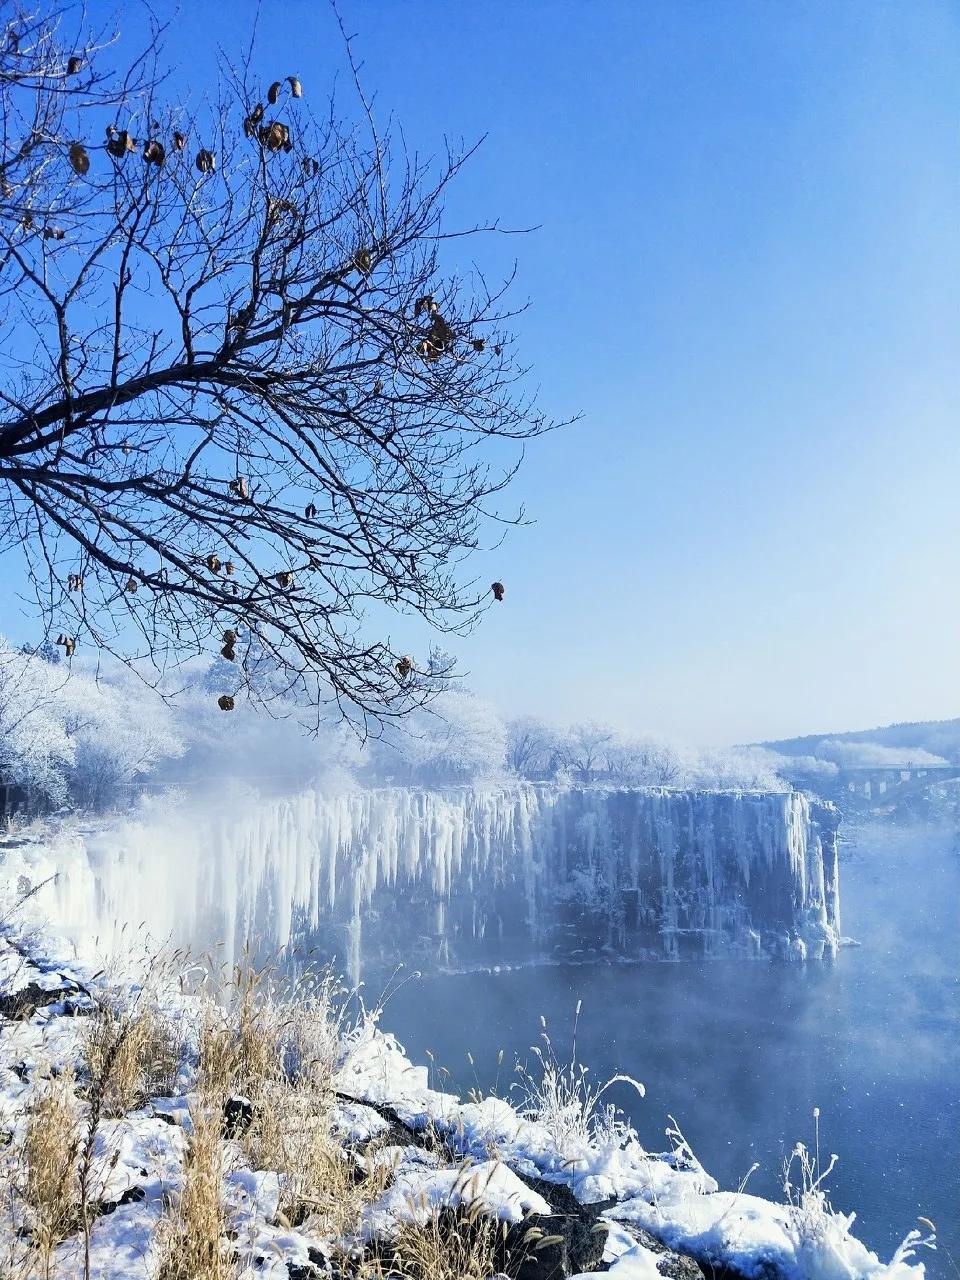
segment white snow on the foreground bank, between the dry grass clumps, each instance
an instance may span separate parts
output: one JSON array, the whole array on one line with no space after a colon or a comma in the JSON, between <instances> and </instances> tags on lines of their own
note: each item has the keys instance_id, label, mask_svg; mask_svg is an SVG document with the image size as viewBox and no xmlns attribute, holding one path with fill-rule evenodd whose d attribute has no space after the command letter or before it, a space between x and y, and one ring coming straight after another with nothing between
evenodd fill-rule
<instances>
[{"instance_id":1,"label":"white snow on the foreground bank, between the dry grass clumps","mask_svg":"<svg viewBox=\"0 0 960 1280\"><path fill-rule=\"evenodd\" d=\"M51 1078L72 1071L83 1080L84 1024L104 980L82 965L51 957L56 945L55 937L44 941L10 925L0 943L0 997L10 1015L0 1024L0 1130L6 1135L1 1155L10 1188L0 1222L0 1257L22 1252L29 1229L17 1190L29 1108ZM195 1115L193 1000L175 988L169 995L168 1012L183 1030L184 1044L173 1096L151 1098L140 1110L96 1126L100 1211L90 1233L90 1276L96 1280L147 1280L156 1274L159 1226L183 1187ZM308 1224L289 1225L278 1211L282 1176L251 1169L241 1144L224 1137L221 1190L232 1275L247 1280L321 1275L317 1260L351 1249L356 1257L371 1242L389 1240L404 1222L422 1222L443 1206L476 1201L479 1212L504 1224L543 1221L550 1230L570 1219L550 1207L550 1187L566 1185L581 1204L603 1202L594 1212L608 1229L603 1260L616 1280L677 1275L676 1266L690 1266L690 1260L707 1274L727 1267L749 1280L923 1276L914 1257L919 1233L883 1263L851 1234L852 1217L832 1212L817 1187L800 1188L792 1204L719 1190L680 1134L673 1149L646 1152L622 1117L600 1106L586 1114L582 1097L562 1089L554 1091L553 1105L532 1102L518 1110L499 1097L463 1101L434 1084L429 1069L412 1064L375 1018L360 1018L343 1029L335 1050L333 1129L344 1158L358 1162L361 1176L365 1149L366 1160L387 1162L392 1170L352 1240L311 1235ZM82 1106L88 1121L90 1102ZM398 1129L402 1140L396 1140ZM419 1139L425 1133L434 1135L433 1143ZM367 1144L378 1134L383 1144L371 1155ZM83 1276L83 1266L81 1239L73 1235L55 1249L50 1276L73 1280ZM8 1266L4 1274L23 1272Z\"/></svg>"}]
</instances>

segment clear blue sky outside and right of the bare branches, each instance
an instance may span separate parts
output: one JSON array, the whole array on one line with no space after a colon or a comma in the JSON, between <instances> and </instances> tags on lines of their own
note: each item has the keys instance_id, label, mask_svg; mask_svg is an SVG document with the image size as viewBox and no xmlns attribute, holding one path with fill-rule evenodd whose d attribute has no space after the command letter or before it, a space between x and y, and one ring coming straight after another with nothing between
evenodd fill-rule
<instances>
[{"instance_id":1,"label":"clear blue sky outside and right of the bare branches","mask_svg":"<svg viewBox=\"0 0 960 1280\"><path fill-rule=\"evenodd\" d=\"M456 645L474 687L704 742L960 714L960 6L342 10L411 146L488 136L451 220L540 225L476 253L516 255L541 403L582 412L477 561L507 602ZM184 6L178 74L252 14ZM324 3L261 33L265 77L347 101Z\"/></svg>"}]
</instances>

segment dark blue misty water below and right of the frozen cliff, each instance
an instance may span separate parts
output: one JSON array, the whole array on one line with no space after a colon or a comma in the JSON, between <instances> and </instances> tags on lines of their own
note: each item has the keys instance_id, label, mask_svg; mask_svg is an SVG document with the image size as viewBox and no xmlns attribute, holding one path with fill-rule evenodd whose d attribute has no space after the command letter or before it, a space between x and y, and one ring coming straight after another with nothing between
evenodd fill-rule
<instances>
[{"instance_id":1,"label":"dark blue misty water below and right of the frozen cliff","mask_svg":"<svg viewBox=\"0 0 960 1280\"><path fill-rule=\"evenodd\" d=\"M412 979L384 1025L415 1060L429 1050L463 1091L530 1061L540 1018L562 1059L573 1014L593 1079L627 1071L620 1101L663 1149L672 1115L723 1188L781 1197L797 1140L838 1164L833 1206L888 1257L918 1215L937 1222L928 1275L960 1271L960 855L948 833L865 827L844 849L842 928L860 945L833 965L713 961L512 969ZM471 1068L466 1055L472 1053ZM499 1089L507 1087L500 1071ZM951 1257L947 1256L947 1251Z\"/></svg>"}]
</instances>

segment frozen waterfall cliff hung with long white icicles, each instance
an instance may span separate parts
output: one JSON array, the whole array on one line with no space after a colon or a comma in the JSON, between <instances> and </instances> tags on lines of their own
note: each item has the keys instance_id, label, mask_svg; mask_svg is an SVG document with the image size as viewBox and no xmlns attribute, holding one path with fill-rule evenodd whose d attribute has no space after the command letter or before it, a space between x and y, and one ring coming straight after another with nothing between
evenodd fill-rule
<instances>
[{"instance_id":1,"label":"frozen waterfall cliff hung with long white icicles","mask_svg":"<svg viewBox=\"0 0 960 1280\"><path fill-rule=\"evenodd\" d=\"M832 954L836 810L799 792L517 783L233 796L64 836L54 923L466 964Z\"/></svg>"}]
</instances>

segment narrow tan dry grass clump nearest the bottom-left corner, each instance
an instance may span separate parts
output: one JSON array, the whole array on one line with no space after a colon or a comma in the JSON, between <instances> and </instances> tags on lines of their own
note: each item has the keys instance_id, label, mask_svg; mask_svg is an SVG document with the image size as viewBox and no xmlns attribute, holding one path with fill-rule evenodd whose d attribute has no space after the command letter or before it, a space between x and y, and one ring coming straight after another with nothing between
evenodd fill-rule
<instances>
[{"instance_id":1,"label":"narrow tan dry grass clump nearest the bottom-left corner","mask_svg":"<svg viewBox=\"0 0 960 1280\"><path fill-rule=\"evenodd\" d=\"M79 1153L79 1103L73 1076L64 1073L47 1080L31 1105L20 1152L22 1194L44 1276L52 1251L81 1225Z\"/></svg>"}]
</instances>

